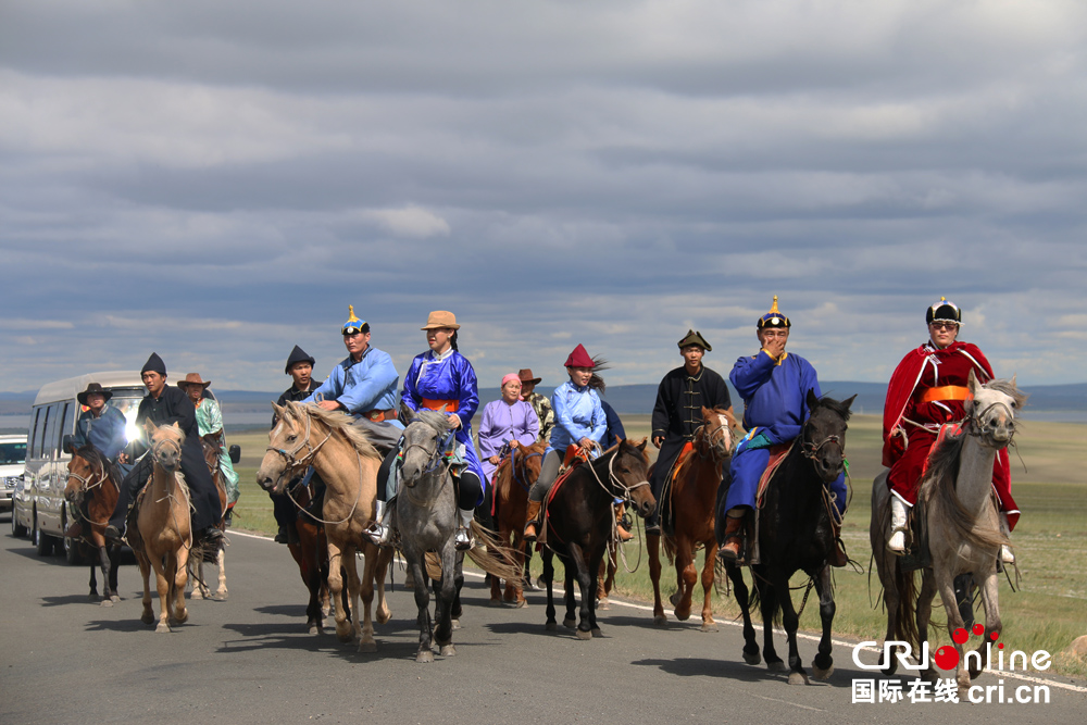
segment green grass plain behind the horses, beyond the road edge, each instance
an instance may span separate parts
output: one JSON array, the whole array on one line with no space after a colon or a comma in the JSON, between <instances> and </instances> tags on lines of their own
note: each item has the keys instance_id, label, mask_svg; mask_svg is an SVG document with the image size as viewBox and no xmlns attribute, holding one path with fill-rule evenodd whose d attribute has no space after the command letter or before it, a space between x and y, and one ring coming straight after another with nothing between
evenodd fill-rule
<instances>
[{"instance_id":1,"label":"green grass plain behind the horses, beyond the road edge","mask_svg":"<svg viewBox=\"0 0 1087 725\"><path fill-rule=\"evenodd\" d=\"M649 433L648 415L623 416L623 423L632 438ZM872 479L882 470L879 425L877 416L855 416L850 422L846 446L852 500L842 538L850 557L863 564L865 573L835 571L837 615L834 629L836 635L859 639L882 639L886 627L882 610L873 607L873 602L878 600L878 583L873 574L870 588L867 576ZM242 460L238 466L242 493L236 508L235 526L274 534L272 504L255 484L257 467L267 446L267 434L235 433L230 435L230 442L242 447ZM1000 610L1004 626L1001 641L1014 650L1047 650L1054 654L1054 671L1087 676L1087 663L1060 654L1072 640L1087 634L1087 466L1084 460L1087 425L1025 423L1016 435L1016 443L1017 454L1012 452L1012 478L1015 482L1015 500L1023 516L1012 542L1022 578L1019 591L1014 592L1005 580L1001 580ZM649 449L655 455L651 446ZM627 561L633 566L637 560L637 550L628 546ZM675 589L676 579L667 562L663 565L661 586L666 597ZM534 560L534 572L538 570L537 558ZM616 583L623 596L652 601L652 585L645 555L638 571L633 574L621 572ZM803 584L802 576L794 580L795 586ZM699 586L696 599L701 597L700 592ZM795 595L798 605L800 593ZM937 618L944 618L942 610L937 614ZM738 609L730 598L722 599L714 595L714 615L719 620L732 618L738 615ZM809 602L801 617L801 627L817 632L820 626L819 609ZM934 645L950 642L946 629L934 628L930 637ZM811 653L805 657L810 659Z\"/></svg>"}]
</instances>

